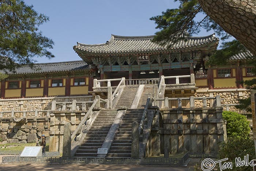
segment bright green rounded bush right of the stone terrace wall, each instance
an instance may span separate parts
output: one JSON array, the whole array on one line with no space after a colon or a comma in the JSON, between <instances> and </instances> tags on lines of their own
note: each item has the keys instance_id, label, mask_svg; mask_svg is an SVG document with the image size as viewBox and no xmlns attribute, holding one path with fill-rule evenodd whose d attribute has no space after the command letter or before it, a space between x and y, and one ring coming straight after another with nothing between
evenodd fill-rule
<instances>
[{"instance_id":1,"label":"bright green rounded bush right of the stone terrace wall","mask_svg":"<svg viewBox=\"0 0 256 171\"><path fill-rule=\"evenodd\" d=\"M249 121L242 114L236 112L224 111L222 118L227 121L227 136L247 138L251 131Z\"/></svg>"}]
</instances>

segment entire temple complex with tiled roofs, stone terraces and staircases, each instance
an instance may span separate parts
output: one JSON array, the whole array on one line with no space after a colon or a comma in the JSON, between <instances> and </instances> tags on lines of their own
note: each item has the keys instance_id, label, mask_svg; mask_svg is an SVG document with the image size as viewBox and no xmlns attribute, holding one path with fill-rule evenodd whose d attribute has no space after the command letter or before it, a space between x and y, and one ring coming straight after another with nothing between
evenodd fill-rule
<instances>
[{"instance_id":1,"label":"entire temple complex with tiled roofs, stone terraces and staircases","mask_svg":"<svg viewBox=\"0 0 256 171\"><path fill-rule=\"evenodd\" d=\"M169 46L153 38L111 35L102 44L77 43L81 61L7 72L0 139L35 143L44 134L49 151L64 157L217 153L226 139L223 110L243 113L234 106L250 96L241 81L256 78L253 55L207 66L219 43L214 34Z\"/></svg>"}]
</instances>

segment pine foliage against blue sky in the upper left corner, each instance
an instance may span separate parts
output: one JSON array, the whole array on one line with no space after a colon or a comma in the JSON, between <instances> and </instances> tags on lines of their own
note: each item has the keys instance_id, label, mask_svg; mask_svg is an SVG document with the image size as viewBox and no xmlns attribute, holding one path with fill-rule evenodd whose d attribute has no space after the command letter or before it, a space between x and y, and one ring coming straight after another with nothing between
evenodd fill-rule
<instances>
[{"instance_id":1,"label":"pine foliage against blue sky in the upper left corner","mask_svg":"<svg viewBox=\"0 0 256 171\"><path fill-rule=\"evenodd\" d=\"M52 58L48 50L53 40L42 35L38 26L49 21L23 0L0 0L0 69L14 70L19 65L32 65L35 57Z\"/></svg>"}]
</instances>

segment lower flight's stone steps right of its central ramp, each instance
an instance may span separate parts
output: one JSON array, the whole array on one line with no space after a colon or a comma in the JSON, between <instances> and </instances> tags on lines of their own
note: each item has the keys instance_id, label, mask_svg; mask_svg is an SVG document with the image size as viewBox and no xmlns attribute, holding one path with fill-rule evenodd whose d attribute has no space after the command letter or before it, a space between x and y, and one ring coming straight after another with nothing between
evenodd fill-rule
<instances>
[{"instance_id":1,"label":"lower flight's stone steps right of its central ramp","mask_svg":"<svg viewBox=\"0 0 256 171\"><path fill-rule=\"evenodd\" d=\"M140 123L144 109L127 109L107 157L131 157L132 123Z\"/></svg>"}]
</instances>

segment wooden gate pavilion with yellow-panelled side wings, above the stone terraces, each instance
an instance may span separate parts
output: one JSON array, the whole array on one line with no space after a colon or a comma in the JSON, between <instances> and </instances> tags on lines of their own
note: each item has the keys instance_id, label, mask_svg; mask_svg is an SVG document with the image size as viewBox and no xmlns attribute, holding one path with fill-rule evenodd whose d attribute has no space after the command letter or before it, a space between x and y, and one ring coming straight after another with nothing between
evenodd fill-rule
<instances>
[{"instance_id":1,"label":"wooden gate pavilion with yellow-panelled side wings, above the stone terraces","mask_svg":"<svg viewBox=\"0 0 256 171\"><path fill-rule=\"evenodd\" d=\"M223 105L234 105L239 98L248 97L241 81L256 78L249 64L251 53L231 57L228 65L206 66L205 62L218 46L219 39L214 34L189 37L170 47L152 42L153 37L111 35L102 44L77 43L73 48L81 61L38 63L33 68L22 66L14 73L8 72L8 78L0 82L1 99L87 97L93 92L95 78L124 77L127 84L139 84L140 79L158 83L161 75L190 74L195 74L197 90L187 94L183 90L176 91L169 97L227 93L230 97L223 97ZM180 78L179 82L186 83L189 79ZM118 82L112 81L112 86L117 86ZM176 83L176 79L166 79L165 83Z\"/></svg>"}]
</instances>

